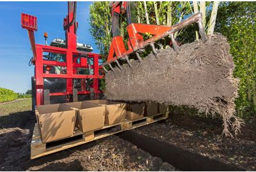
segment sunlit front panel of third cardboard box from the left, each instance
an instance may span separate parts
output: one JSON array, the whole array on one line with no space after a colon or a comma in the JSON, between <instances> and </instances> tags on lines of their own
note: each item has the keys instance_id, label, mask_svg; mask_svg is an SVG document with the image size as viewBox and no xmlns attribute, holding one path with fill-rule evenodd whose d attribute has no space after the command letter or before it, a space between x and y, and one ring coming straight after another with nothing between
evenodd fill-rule
<instances>
[{"instance_id":1,"label":"sunlit front panel of third cardboard box from the left","mask_svg":"<svg viewBox=\"0 0 256 172\"><path fill-rule=\"evenodd\" d=\"M106 105L105 123L108 125L124 122L126 114L126 104L108 104Z\"/></svg>"}]
</instances>

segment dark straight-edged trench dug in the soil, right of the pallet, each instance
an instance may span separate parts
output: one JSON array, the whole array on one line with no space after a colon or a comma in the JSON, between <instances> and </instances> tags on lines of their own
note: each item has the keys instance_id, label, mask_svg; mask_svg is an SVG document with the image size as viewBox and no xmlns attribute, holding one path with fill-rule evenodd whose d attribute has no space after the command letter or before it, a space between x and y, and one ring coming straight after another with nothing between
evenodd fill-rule
<instances>
[{"instance_id":1,"label":"dark straight-edged trench dug in the soil, right of the pallet","mask_svg":"<svg viewBox=\"0 0 256 172\"><path fill-rule=\"evenodd\" d=\"M182 171L244 171L245 169L237 168L234 164L205 157L200 154L184 150L180 147L166 141L157 140L135 131L125 131L118 134L120 138L129 141L138 148L150 153L154 157L161 158L175 168Z\"/></svg>"}]
</instances>

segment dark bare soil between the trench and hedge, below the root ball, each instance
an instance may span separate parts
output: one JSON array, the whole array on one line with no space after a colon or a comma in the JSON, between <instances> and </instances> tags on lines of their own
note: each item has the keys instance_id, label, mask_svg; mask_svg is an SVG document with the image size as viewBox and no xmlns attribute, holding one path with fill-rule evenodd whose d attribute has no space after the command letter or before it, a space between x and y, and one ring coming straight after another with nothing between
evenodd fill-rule
<instances>
[{"instance_id":1,"label":"dark bare soil between the trench and hedge, below the root ball","mask_svg":"<svg viewBox=\"0 0 256 172\"><path fill-rule=\"evenodd\" d=\"M137 133L172 143L191 152L232 163L240 169L256 170L256 121L246 121L237 138L220 137L222 122L173 113L165 122L135 129Z\"/></svg>"}]
</instances>

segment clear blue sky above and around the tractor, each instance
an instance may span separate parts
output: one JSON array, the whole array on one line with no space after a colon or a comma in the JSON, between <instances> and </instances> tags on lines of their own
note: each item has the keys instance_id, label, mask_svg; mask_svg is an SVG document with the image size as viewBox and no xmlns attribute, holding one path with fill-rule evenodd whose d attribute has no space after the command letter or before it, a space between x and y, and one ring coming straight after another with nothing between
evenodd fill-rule
<instances>
[{"instance_id":1,"label":"clear blue sky above and around the tractor","mask_svg":"<svg viewBox=\"0 0 256 172\"><path fill-rule=\"evenodd\" d=\"M92 2L77 2L77 29L79 43L95 46L88 23ZM0 87L26 92L31 89L34 66L28 66L32 57L28 33L20 25L20 13L35 15L38 31L36 43L44 44L44 32L48 32L48 43L54 38L65 39L63 18L67 15L67 2L0 2Z\"/></svg>"}]
</instances>

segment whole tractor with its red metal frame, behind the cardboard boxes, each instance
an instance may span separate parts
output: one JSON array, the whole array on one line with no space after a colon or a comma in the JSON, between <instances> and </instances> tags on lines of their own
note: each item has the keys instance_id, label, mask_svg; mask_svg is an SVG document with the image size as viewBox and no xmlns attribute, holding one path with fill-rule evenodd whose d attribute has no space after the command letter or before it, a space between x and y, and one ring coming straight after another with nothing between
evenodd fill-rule
<instances>
[{"instance_id":1,"label":"whole tractor with its red metal frame, behind the cardboard boxes","mask_svg":"<svg viewBox=\"0 0 256 172\"><path fill-rule=\"evenodd\" d=\"M35 66L32 76L33 104L67 103L100 96L99 80L102 66L99 54L92 53L91 45L77 43L76 2L68 2L68 15L64 18L65 40L54 39L47 45L35 43L37 18L21 14L22 28L28 30L33 57L29 66ZM92 97L95 96L95 97Z\"/></svg>"}]
</instances>

